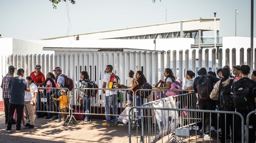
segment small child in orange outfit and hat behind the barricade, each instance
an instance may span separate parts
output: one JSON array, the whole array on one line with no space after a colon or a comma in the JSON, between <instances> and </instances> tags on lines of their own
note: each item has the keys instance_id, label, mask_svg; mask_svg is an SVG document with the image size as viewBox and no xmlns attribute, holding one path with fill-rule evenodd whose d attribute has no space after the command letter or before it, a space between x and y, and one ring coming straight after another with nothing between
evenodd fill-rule
<instances>
[{"instance_id":1,"label":"small child in orange outfit and hat behind the barricade","mask_svg":"<svg viewBox=\"0 0 256 143\"><path fill-rule=\"evenodd\" d=\"M61 112L68 112L68 96L66 95L67 90L66 89L61 89L60 90L60 97L59 98L54 98L52 97L53 100L60 101L60 111ZM68 114L62 113L63 121L60 122L60 124L64 124L66 118L68 117Z\"/></svg>"}]
</instances>

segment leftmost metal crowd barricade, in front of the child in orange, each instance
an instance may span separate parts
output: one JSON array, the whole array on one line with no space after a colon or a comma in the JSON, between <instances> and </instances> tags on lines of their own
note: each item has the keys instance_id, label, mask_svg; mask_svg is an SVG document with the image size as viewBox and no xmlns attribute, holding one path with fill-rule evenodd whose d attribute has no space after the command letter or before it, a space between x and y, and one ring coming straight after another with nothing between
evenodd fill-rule
<instances>
[{"instance_id":1,"label":"leftmost metal crowd barricade, in front of the child in orange","mask_svg":"<svg viewBox=\"0 0 256 143\"><path fill-rule=\"evenodd\" d=\"M66 89L66 95L68 96L68 110L66 110L65 112L61 111L61 105L63 101L57 101L54 100L52 97L54 98L59 98L61 96L60 90L61 89ZM72 99L71 99L71 92L69 91L68 88L45 88L45 87L40 87L38 88L39 91L41 91L38 94L38 98L37 98L37 103L38 105L36 105L36 112L41 112L41 113L56 113L58 114L58 117L60 118L61 114L68 114L67 118L65 119L65 122L63 123L63 125L65 125L66 122L68 122L67 125L69 125L69 123L72 121L73 123L77 122L74 118L74 120L72 119L71 116L71 112L70 110L72 109Z\"/></svg>"}]
</instances>

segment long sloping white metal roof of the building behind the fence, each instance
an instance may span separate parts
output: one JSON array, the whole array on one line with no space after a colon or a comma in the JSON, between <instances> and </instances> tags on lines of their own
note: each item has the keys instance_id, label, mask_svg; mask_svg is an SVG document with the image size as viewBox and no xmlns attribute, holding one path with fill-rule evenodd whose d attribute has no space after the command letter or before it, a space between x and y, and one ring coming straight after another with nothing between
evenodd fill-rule
<instances>
[{"instance_id":1,"label":"long sloping white metal roof of the building behind the fence","mask_svg":"<svg viewBox=\"0 0 256 143\"><path fill-rule=\"evenodd\" d=\"M180 32L181 31L181 22L183 31L202 31L214 30L214 18L199 18L192 20L182 20L182 21L173 21L160 24L151 24L137 27L113 29L99 32L90 32L79 34L80 40L91 40L91 39L109 39L109 38L119 38L119 37L128 37L136 35L149 35L149 34L158 34L158 33L167 33L167 32ZM220 18L216 18L216 30L220 30ZM70 35L69 37L75 38L76 35ZM67 36L54 37L54 38L45 38L41 40L54 40L54 39L64 39Z\"/></svg>"}]
</instances>

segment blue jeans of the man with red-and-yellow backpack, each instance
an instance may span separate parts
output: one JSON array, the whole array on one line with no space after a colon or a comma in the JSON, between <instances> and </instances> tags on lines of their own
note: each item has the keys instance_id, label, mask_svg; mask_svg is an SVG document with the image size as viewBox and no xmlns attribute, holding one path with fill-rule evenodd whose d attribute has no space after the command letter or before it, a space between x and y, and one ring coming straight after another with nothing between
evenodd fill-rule
<instances>
[{"instance_id":1,"label":"blue jeans of the man with red-and-yellow backpack","mask_svg":"<svg viewBox=\"0 0 256 143\"><path fill-rule=\"evenodd\" d=\"M112 111L114 115L117 115L117 94L106 96L106 106L105 106L105 114L110 114L110 108L112 105ZM117 123L117 116L113 116L114 124ZM110 116L106 115L106 123L110 124Z\"/></svg>"}]
</instances>

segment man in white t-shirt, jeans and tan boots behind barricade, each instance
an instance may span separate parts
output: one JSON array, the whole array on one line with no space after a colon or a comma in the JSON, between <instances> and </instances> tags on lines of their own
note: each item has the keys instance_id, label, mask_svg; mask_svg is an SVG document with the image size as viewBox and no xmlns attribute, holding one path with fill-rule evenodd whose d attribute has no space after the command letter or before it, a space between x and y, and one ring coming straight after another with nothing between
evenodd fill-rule
<instances>
[{"instance_id":1,"label":"man in white t-shirt, jeans and tan boots behind barricade","mask_svg":"<svg viewBox=\"0 0 256 143\"><path fill-rule=\"evenodd\" d=\"M107 65L106 66L106 74L104 75L103 78L103 85L102 88L108 88L109 82L110 82L110 77L113 70L113 66L111 65ZM113 114L116 115L117 114L117 90L102 90L102 93L105 94L106 96L106 105L105 105L105 114L110 114L110 108L111 105L113 106L112 110L113 110ZM114 126L117 125L117 116L113 116L113 122L114 122ZM111 126L110 124L110 116L106 115L106 122L102 123L103 126Z\"/></svg>"}]
</instances>

